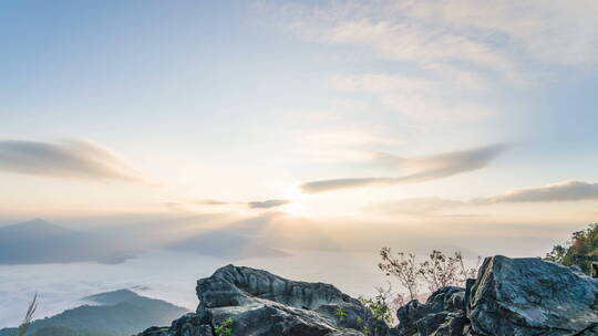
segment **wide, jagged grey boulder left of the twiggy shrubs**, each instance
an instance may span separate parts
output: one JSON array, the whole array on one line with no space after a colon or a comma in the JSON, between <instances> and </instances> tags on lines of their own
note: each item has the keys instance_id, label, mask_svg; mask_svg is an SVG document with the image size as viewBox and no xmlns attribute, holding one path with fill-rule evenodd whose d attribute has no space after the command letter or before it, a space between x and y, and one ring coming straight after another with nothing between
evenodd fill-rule
<instances>
[{"instance_id":1,"label":"wide, jagged grey boulder left of the twiggy shrubs","mask_svg":"<svg viewBox=\"0 0 598 336\"><path fill-rule=\"evenodd\" d=\"M199 306L143 336L390 336L358 300L324 283L227 265L197 281Z\"/></svg>"}]
</instances>

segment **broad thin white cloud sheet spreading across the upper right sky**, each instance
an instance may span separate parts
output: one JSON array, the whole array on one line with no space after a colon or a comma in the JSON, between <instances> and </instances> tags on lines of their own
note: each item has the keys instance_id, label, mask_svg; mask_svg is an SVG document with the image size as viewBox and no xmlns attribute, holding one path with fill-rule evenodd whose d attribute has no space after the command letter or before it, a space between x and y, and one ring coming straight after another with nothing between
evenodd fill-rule
<instances>
[{"instance_id":1,"label":"broad thin white cloud sheet spreading across the upper right sky","mask_svg":"<svg viewBox=\"0 0 598 336\"><path fill-rule=\"evenodd\" d=\"M598 59L592 0L260 3L264 17L305 41L342 46L352 61L394 62L330 84L372 93L375 107L425 122L497 114L492 102L505 91L538 87Z\"/></svg>"}]
</instances>

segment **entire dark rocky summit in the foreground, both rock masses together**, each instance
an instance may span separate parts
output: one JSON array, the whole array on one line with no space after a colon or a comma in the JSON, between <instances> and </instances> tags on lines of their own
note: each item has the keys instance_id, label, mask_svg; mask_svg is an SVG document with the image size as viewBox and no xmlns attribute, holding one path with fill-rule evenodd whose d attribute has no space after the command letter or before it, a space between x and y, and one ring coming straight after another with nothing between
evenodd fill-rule
<instances>
[{"instance_id":1,"label":"entire dark rocky summit in the foreground, both rock masses together","mask_svg":"<svg viewBox=\"0 0 598 336\"><path fill-rule=\"evenodd\" d=\"M197 282L199 306L140 336L595 336L598 280L540 259L485 259L465 288L399 308L395 327L330 284L227 265Z\"/></svg>"}]
</instances>

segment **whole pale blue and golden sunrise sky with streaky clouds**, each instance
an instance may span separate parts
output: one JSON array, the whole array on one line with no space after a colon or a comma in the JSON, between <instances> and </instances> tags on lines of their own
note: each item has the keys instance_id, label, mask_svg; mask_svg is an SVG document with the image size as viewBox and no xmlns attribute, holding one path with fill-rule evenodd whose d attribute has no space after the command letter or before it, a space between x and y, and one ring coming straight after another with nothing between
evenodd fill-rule
<instances>
[{"instance_id":1,"label":"whole pale blue and golden sunrise sky with streaky clouds","mask_svg":"<svg viewBox=\"0 0 598 336\"><path fill-rule=\"evenodd\" d=\"M296 244L540 253L598 218L597 15L592 0L3 2L0 221L214 216Z\"/></svg>"}]
</instances>

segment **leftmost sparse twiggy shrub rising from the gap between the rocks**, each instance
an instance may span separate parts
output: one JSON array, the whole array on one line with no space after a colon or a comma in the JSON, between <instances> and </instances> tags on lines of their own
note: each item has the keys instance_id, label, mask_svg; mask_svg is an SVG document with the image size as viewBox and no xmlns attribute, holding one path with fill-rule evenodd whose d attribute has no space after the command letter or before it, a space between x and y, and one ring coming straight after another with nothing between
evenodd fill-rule
<instances>
[{"instance_id":1,"label":"leftmost sparse twiggy shrub rising from the gap between the rocks","mask_svg":"<svg viewBox=\"0 0 598 336\"><path fill-rule=\"evenodd\" d=\"M378 267L385 272L386 275L394 275L401 285L409 291L410 300L415 300L420 286L417 279L421 276L415 255L400 252L396 256L393 256L390 248L382 248L380 256L382 262L378 264Z\"/></svg>"}]
</instances>

